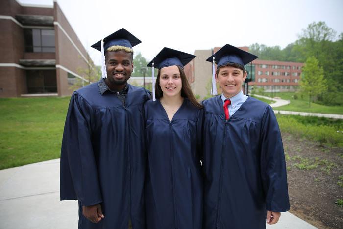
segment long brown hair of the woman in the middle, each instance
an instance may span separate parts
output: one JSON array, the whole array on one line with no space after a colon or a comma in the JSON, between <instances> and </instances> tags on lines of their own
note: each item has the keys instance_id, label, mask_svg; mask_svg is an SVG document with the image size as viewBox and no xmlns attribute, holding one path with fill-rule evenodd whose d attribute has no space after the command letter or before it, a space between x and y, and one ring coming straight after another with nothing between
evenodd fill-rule
<instances>
[{"instance_id":1,"label":"long brown hair of the woman in the middle","mask_svg":"<svg viewBox=\"0 0 343 229\"><path fill-rule=\"evenodd\" d=\"M199 104L199 102L196 100L196 97L194 97L191 86L189 85L188 80L186 78L185 71L183 70L182 67L180 67L178 65L176 65L176 66L179 69L180 77L181 77L181 83L182 83L181 96L184 98L188 98L195 107L201 109L202 105ZM161 69L158 69L157 79L156 79L156 83L155 83L156 99L160 99L163 97L163 91L162 91L161 86L160 86L160 74L161 74Z\"/></svg>"}]
</instances>

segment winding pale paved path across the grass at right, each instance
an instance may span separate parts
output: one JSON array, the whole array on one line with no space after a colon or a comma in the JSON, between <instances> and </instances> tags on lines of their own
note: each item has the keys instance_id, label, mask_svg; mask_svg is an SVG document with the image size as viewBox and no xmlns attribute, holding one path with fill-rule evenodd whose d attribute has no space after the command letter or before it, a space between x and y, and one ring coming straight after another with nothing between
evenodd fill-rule
<instances>
[{"instance_id":1,"label":"winding pale paved path across the grass at right","mask_svg":"<svg viewBox=\"0 0 343 229\"><path fill-rule=\"evenodd\" d=\"M262 96L262 95L255 95L255 97L258 98L264 98L264 99L269 99L272 101L275 101L275 103L270 104L272 108L275 107L281 107L285 106L290 103L290 100L284 100L284 99L276 99L276 98L270 98L267 96ZM335 118L335 119L343 119L342 114L324 114L324 113L312 113L312 112L294 112L294 111L281 111L281 110L275 110L275 114L292 114L292 115L300 115L300 116L316 116L316 117L326 117L326 118Z\"/></svg>"}]
</instances>

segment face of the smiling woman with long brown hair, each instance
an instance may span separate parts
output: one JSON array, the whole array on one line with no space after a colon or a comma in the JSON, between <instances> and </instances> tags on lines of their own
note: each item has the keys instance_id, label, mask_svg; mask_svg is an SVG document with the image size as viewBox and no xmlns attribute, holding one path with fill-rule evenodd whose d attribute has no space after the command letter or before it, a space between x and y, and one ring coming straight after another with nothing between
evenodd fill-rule
<instances>
[{"instance_id":1,"label":"face of the smiling woman with long brown hair","mask_svg":"<svg viewBox=\"0 0 343 229\"><path fill-rule=\"evenodd\" d=\"M160 87L163 96L181 96L182 81L180 71L176 65L161 68Z\"/></svg>"}]
</instances>

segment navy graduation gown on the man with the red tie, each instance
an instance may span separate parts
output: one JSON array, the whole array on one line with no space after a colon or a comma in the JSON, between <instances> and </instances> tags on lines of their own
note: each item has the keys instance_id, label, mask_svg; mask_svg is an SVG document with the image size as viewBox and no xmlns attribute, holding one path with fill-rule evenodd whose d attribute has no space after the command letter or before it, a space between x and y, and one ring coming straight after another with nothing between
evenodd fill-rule
<instances>
[{"instance_id":1,"label":"navy graduation gown on the man with the red tie","mask_svg":"<svg viewBox=\"0 0 343 229\"><path fill-rule=\"evenodd\" d=\"M265 229L290 209L281 133L272 108L248 97L229 120L221 96L204 105L204 229Z\"/></svg>"}]
</instances>

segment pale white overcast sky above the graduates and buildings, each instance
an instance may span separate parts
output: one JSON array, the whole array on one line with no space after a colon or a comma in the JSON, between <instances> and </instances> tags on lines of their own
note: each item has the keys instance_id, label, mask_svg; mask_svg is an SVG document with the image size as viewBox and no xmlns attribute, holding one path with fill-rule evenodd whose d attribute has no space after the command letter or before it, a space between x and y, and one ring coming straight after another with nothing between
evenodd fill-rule
<instances>
[{"instance_id":1,"label":"pale white overcast sky above the graduates and buildings","mask_svg":"<svg viewBox=\"0 0 343 229\"><path fill-rule=\"evenodd\" d=\"M52 5L52 0L18 0ZM203 3L201 3L203 2ZM325 21L343 32L343 0L57 0L96 64L98 40L125 28L142 43L134 47L148 60L163 47L193 54L229 43L285 48L301 29ZM89 48L88 48L89 47Z\"/></svg>"}]
</instances>

